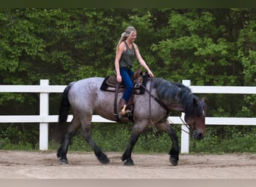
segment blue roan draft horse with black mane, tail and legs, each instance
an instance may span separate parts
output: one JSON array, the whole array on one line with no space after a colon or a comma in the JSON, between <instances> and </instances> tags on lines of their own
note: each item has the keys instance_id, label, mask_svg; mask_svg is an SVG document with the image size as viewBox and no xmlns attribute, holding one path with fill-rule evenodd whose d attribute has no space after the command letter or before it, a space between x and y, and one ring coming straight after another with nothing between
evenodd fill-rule
<instances>
[{"instance_id":1,"label":"blue roan draft horse with black mane, tail and legs","mask_svg":"<svg viewBox=\"0 0 256 187\"><path fill-rule=\"evenodd\" d=\"M104 78L91 77L70 82L61 96L61 105L58 116L58 148L57 157L60 164L68 164L67 150L73 135L82 126L82 136L94 150L98 161L108 164L109 158L97 146L92 138L91 119L93 114L99 114L108 120L116 120L114 115L115 93L100 89ZM177 134L168 121L171 111L184 112L186 126L191 129L192 138L200 140L205 135L205 110L204 97L199 99L192 94L190 88L181 83L169 82L162 78L147 78L144 94L133 94L132 119L121 117L118 123L132 122L132 132L129 144L121 160L124 165L134 165L132 148L135 146L141 132L152 123L156 129L167 132L172 141L169 151L169 161L178 165L180 147ZM118 100L123 93L118 94ZM71 123L67 123L70 109L73 111ZM119 110L119 109L118 109Z\"/></svg>"}]
</instances>

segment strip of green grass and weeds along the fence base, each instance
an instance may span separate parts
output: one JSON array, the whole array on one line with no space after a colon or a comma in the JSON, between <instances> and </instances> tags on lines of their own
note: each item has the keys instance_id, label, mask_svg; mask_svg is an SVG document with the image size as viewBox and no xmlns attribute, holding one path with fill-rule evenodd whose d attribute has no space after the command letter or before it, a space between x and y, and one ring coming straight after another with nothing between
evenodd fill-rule
<instances>
[{"instance_id":1,"label":"strip of green grass and weeds along the fence base","mask_svg":"<svg viewBox=\"0 0 256 187\"><path fill-rule=\"evenodd\" d=\"M180 141L180 126L173 126ZM129 124L96 125L93 127L94 141L103 152L124 152L129 142L132 126ZM240 130L225 129L224 135L216 128L208 129L206 137L201 141L190 138L189 153L256 153L256 129L246 133ZM9 138L0 138L0 150L39 150L38 142L34 144L25 139L16 140L13 144ZM57 150L59 145L49 141L49 150ZM171 149L171 139L166 133L148 130L138 138L133 153L168 153ZM74 137L69 147L70 151L91 152L91 147L82 138L81 132Z\"/></svg>"}]
</instances>

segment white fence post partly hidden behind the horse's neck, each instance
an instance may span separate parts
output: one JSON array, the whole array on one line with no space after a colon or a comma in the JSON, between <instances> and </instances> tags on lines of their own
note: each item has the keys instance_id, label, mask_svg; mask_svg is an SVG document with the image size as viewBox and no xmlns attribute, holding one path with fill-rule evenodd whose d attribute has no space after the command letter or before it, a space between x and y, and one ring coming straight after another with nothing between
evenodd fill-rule
<instances>
[{"instance_id":1,"label":"white fence post partly hidden behind the horse's neck","mask_svg":"<svg viewBox=\"0 0 256 187\"><path fill-rule=\"evenodd\" d=\"M186 86L190 86L190 80L182 80L182 84ZM182 112L181 117L184 119L185 114ZM189 153L189 129L182 124L181 125L181 147L180 153Z\"/></svg>"}]
</instances>

